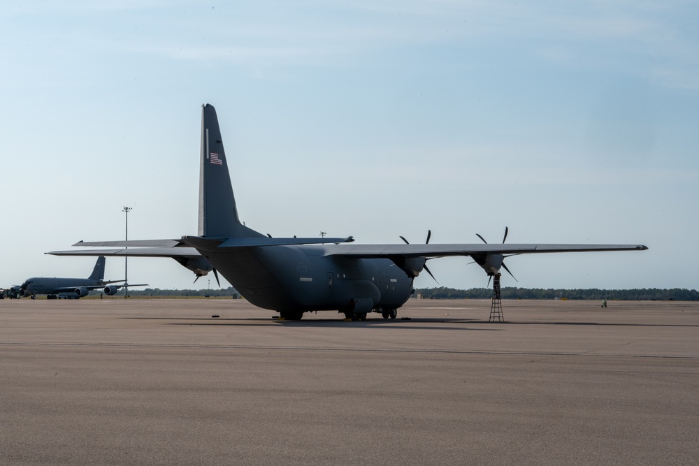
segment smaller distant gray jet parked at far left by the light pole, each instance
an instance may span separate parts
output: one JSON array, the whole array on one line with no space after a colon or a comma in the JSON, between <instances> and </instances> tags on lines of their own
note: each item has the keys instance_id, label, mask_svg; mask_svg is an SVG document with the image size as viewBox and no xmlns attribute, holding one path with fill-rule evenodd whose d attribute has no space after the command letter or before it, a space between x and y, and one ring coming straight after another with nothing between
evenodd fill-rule
<instances>
[{"instance_id":1,"label":"smaller distant gray jet parked at far left by the light pole","mask_svg":"<svg viewBox=\"0 0 699 466\"><path fill-rule=\"evenodd\" d=\"M31 296L31 299L36 298L36 295L47 295L47 299L78 299L87 296L90 291L101 289L106 295L113 295L119 291L124 285L113 285L113 283L124 282L124 280L104 281L104 265L106 261L104 256L97 258L94 264L92 274L87 278L48 278L48 277L31 277L24 280L20 285L20 298ZM145 285L126 285L126 286L145 286Z\"/></svg>"}]
</instances>

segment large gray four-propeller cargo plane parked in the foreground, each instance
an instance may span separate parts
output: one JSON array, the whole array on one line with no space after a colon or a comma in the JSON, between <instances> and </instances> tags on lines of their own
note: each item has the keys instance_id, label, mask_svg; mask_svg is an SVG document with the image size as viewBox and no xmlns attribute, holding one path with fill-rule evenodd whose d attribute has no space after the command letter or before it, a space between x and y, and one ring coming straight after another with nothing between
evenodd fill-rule
<instances>
[{"instance_id":1,"label":"large gray four-propeller cargo plane parked in the foreground","mask_svg":"<svg viewBox=\"0 0 699 466\"><path fill-rule=\"evenodd\" d=\"M304 312L336 311L364 320L369 312L396 318L413 293L427 259L470 256L499 277L514 254L642 251L644 245L395 244L358 245L347 238L271 238L240 222L216 110L202 106L199 229L179 240L78 242L74 246L121 247L55 251L55 255L165 256L204 259L250 303L284 319ZM352 243L352 244L348 244ZM128 247L128 249L123 249ZM429 271L428 271L429 272Z\"/></svg>"}]
</instances>

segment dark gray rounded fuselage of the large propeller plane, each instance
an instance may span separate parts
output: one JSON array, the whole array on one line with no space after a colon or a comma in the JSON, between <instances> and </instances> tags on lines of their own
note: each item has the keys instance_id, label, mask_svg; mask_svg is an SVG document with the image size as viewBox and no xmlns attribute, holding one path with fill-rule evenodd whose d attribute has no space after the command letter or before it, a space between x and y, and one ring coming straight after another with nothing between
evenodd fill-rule
<instances>
[{"instance_id":1,"label":"dark gray rounded fuselage of the large propeller plane","mask_svg":"<svg viewBox=\"0 0 699 466\"><path fill-rule=\"evenodd\" d=\"M412 279L389 259L326 256L315 245L203 253L250 303L279 312L366 314L401 307Z\"/></svg>"}]
</instances>

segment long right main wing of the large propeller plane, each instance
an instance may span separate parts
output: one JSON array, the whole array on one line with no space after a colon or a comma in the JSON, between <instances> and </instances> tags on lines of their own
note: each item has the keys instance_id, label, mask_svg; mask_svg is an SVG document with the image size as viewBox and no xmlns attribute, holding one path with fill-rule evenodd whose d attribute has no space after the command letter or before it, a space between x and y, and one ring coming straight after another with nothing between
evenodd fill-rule
<instances>
[{"instance_id":1,"label":"long right main wing of the large propeller plane","mask_svg":"<svg viewBox=\"0 0 699 466\"><path fill-rule=\"evenodd\" d=\"M451 245L328 245L326 256L370 258L478 256L482 254L542 254L549 252L644 251L644 245L451 244Z\"/></svg>"}]
</instances>

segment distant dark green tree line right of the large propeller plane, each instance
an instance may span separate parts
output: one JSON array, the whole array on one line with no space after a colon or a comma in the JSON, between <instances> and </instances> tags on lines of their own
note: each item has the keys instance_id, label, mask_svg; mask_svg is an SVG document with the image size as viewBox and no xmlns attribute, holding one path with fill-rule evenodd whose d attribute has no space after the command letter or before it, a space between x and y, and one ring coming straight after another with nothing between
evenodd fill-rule
<instances>
[{"instance_id":1,"label":"distant dark green tree line right of the large propeller plane","mask_svg":"<svg viewBox=\"0 0 699 466\"><path fill-rule=\"evenodd\" d=\"M473 288L457 290L440 286L439 288L423 288L415 290L424 298L433 299L489 299L493 296L490 288ZM630 290L601 290L601 289L528 289L505 287L500 290L503 299L570 299L570 300L628 300L628 301L698 301L699 291L688 289L630 289Z\"/></svg>"}]
</instances>

